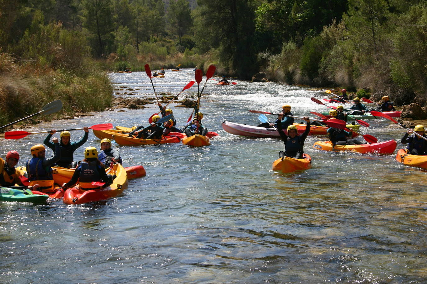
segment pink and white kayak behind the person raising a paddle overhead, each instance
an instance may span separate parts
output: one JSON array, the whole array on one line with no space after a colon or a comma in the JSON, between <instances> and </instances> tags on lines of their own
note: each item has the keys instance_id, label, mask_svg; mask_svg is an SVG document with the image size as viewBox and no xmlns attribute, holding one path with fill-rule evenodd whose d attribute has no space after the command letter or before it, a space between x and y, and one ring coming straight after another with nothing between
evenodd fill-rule
<instances>
[{"instance_id":1,"label":"pink and white kayak behind the person raising a paddle overhead","mask_svg":"<svg viewBox=\"0 0 427 284\"><path fill-rule=\"evenodd\" d=\"M230 121L224 121L222 128L231 134L255 137L255 138L280 138L279 132L274 128L258 127ZM285 130L287 134L287 131ZM304 130L298 129L298 134L304 133Z\"/></svg>"}]
</instances>

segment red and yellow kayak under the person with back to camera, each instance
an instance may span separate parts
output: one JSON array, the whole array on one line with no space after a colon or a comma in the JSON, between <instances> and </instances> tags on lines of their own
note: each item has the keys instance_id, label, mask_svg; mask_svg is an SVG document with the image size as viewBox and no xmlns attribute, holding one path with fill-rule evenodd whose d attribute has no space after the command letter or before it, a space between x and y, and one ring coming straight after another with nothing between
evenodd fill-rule
<instances>
[{"instance_id":1,"label":"red and yellow kayak under the person with back to camera","mask_svg":"<svg viewBox=\"0 0 427 284\"><path fill-rule=\"evenodd\" d=\"M120 164L115 164L114 168L109 172L111 175L116 175L113 183L106 187L98 189L82 190L80 185L69 188L64 194L65 204L83 204L92 201L101 201L120 195L128 186L126 171Z\"/></svg>"}]
</instances>

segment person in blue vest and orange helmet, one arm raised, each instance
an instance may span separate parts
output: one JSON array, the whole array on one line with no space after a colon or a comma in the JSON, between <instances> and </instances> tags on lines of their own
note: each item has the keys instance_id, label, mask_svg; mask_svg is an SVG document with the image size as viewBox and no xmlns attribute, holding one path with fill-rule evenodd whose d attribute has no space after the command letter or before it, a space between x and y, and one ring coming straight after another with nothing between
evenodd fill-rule
<instances>
[{"instance_id":1,"label":"person in blue vest and orange helmet, one arm raised","mask_svg":"<svg viewBox=\"0 0 427 284\"><path fill-rule=\"evenodd\" d=\"M61 158L58 138L52 139L55 146L53 157L45 158L46 148L37 144L31 147L32 158L26 162L26 171L28 173L29 185L38 184L38 190L41 192L53 192L52 168Z\"/></svg>"}]
</instances>

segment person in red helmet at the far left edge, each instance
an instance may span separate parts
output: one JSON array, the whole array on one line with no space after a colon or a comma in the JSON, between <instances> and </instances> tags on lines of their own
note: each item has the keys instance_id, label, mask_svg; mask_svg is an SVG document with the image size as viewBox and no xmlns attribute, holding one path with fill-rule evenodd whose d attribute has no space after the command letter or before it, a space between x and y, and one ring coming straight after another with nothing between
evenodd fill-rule
<instances>
[{"instance_id":1,"label":"person in red helmet at the far left edge","mask_svg":"<svg viewBox=\"0 0 427 284\"><path fill-rule=\"evenodd\" d=\"M22 181L19 179L20 173L16 172L15 166L19 161L19 153L12 150L6 154L6 163L0 158L0 185L18 184L22 186ZM38 184L28 186L28 189L37 190Z\"/></svg>"}]
</instances>

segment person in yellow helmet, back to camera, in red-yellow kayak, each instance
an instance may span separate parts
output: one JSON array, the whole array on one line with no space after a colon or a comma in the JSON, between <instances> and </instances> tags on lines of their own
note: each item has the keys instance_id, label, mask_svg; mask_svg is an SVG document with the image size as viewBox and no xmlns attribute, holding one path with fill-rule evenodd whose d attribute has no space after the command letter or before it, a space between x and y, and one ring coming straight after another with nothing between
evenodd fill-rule
<instances>
[{"instance_id":1,"label":"person in yellow helmet, back to camera, in red-yellow kayak","mask_svg":"<svg viewBox=\"0 0 427 284\"><path fill-rule=\"evenodd\" d=\"M89 190L99 188L99 186L92 184L93 181L105 182L105 186L107 186L112 183L113 179L111 175L107 175L101 166L101 162L98 160L97 148L87 147L85 149L85 158L74 171L70 181L62 184L62 187L67 189L79 181L81 189Z\"/></svg>"}]
</instances>

